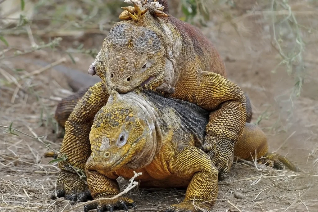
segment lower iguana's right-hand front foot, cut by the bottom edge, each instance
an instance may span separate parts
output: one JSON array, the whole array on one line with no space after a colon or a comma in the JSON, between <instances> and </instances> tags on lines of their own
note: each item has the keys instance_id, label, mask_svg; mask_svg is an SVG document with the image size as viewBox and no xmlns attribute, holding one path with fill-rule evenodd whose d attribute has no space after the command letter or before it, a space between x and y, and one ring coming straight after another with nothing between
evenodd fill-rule
<instances>
[{"instance_id":1,"label":"lower iguana's right-hand front foot, cut by the bottom edge","mask_svg":"<svg viewBox=\"0 0 318 212\"><path fill-rule=\"evenodd\" d=\"M180 204L170 205L166 212L198 212L201 211L201 208L209 210L210 206L207 203L198 201L195 201L194 204L193 201L181 202Z\"/></svg>"}]
</instances>

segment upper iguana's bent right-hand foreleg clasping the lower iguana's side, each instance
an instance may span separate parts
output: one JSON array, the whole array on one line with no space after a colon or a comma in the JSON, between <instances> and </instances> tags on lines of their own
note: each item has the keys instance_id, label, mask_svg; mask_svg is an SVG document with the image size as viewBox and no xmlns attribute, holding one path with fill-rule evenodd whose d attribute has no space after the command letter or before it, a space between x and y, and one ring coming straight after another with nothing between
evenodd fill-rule
<instances>
[{"instance_id":1,"label":"upper iguana's bent right-hand foreleg clasping the lower iguana's side","mask_svg":"<svg viewBox=\"0 0 318 212\"><path fill-rule=\"evenodd\" d=\"M205 152L211 151L209 154L222 179L232 164L234 145L244 131L246 98L239 86L225 77L214 72L201 71L197 74L194 64L188 69L193 71L188 70L189 75L180 77L176 93L172 96L211 111L200 148ZM196 80L189 82L188 79Z\"/></svg>"}]
</instances>

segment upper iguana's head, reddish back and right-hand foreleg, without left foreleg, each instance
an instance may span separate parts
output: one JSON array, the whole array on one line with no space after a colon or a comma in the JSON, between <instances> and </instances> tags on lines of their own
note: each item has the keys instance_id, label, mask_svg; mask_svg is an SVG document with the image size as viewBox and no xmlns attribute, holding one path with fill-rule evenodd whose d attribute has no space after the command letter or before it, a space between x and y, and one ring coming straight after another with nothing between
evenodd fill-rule
<instances>
[{"instance_id":1,"label":"upper iguana's head, reddish back and right-hand foreleg, without left foreleg","mask_svg":"<svg viewBox=\"0 0 318 212\"><path fill-rule=\"evenodd\" d=\"M211 151L224 178L244 131L244 93L225 78L215 78L215 73L226 76L224 62L197 28L172 16L158 17L158 2L131 2L134 7L126 10L135 15L122 13L126 20L114 24L89 72L104 78L109 91L126 93L145 85L213 111L200 148Z\"/></svg>"}]
</instances>

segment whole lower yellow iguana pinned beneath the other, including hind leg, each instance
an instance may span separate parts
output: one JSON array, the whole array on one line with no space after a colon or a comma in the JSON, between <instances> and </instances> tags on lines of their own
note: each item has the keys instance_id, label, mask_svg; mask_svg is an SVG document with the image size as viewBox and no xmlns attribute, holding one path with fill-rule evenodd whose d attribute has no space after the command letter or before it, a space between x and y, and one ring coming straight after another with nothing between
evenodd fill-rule
<instances>
[{"instance_id":1,"label":"whole lower yellow iguana pinned beneath the other, including hind leg","mask_svg":"<svg viewBox=\"0 0 318 212\"><path fill-rule=\"evenodd\" d=\"M213 206L218 194L218 169L201 146L209 112L186 101L164 98L156 92L136 89L119 94L113 91L107 105L96 114L91 132L91 156L86 163L88 187L94 199L120 193L116 178L135 180L139 187L185 187L185 199L166 211L197 211ZM286 158L268 153L263 131L246 123L245 135L235 144L235 154L249 159L267 157L270 165L297 168ZM256 158L254 157L254 158ZM230 165L231 166L231 165ZM135 206L133 200L119 197L84 206L84 211L113 211Z\"/></svg>"}]
</instances>

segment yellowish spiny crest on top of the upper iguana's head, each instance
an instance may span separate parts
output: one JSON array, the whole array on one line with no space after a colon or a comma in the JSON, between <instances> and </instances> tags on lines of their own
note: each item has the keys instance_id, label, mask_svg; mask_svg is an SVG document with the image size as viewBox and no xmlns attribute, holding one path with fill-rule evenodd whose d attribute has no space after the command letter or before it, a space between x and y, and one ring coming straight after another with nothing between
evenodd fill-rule
<instances>
[{"instance_id":1,"label":"yellowish spiny crest on top of the upper iguana's head","mask_svg":"<svg viewBox=\"0 0 318 212\"><path fill-rule=\"evenodd\" d=\"M132 3L134 6L122 7L124 11L120 14L119 18L123 20L133 19L138 22L147 11L155 17L169 17L163 12L162 6L157 0L126 0L126 3Z\"/></svg>"}]
</instances>

